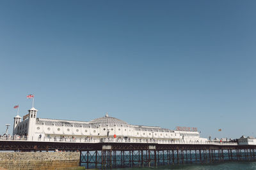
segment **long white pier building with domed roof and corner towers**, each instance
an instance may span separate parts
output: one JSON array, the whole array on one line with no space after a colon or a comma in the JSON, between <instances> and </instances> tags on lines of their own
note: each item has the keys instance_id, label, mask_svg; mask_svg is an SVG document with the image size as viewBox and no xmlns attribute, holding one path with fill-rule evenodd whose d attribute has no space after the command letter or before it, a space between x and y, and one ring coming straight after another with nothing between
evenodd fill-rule
<instances>
[{"instance_id":1,"label":"long white pier building with domed roof and corner towers","mask_svg":"<svg viewBox=\"0 0 256 170\"><path fill-rule=\"evenodd\" d=\"M196 128L179 128L177 130L161 127L131 125L118 118L109 117L108 113L101 118L89 122L73 120L56 120L38 118L35 108L28 110L28 115L22 118L14 117L13 136L27 136L28 140L80 138L102 141L102 139L129 139L131 141L186 141L186 143L205 143L206 138L200 138Z\"/></svg>"}]
</instances>

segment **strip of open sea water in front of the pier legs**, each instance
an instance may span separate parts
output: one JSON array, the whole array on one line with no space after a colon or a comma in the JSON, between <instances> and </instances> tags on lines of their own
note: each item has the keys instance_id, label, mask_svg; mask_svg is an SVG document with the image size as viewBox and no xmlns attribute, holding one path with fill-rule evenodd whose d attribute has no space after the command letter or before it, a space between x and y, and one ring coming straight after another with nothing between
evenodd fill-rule
<instances>
[{"instance_id":1,"label":"strip of open sea water in front of the pier legs","mask_svg":"<svg viewBox=\"0 0 256 170\"><path fill-rule=\"evenodd\" d=\"M161 166L157 168L119 168L118 170L153 170L153 169L191 169L191 170L221 170L221 169L241 169L256 170L256 162L224 162L216 164L186 164L179 166ZM116 169L117 170L117 169Z\"/></svg>"}]
</instances>

